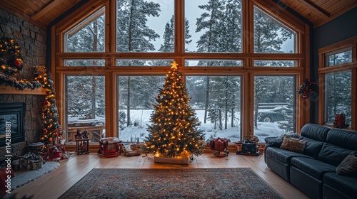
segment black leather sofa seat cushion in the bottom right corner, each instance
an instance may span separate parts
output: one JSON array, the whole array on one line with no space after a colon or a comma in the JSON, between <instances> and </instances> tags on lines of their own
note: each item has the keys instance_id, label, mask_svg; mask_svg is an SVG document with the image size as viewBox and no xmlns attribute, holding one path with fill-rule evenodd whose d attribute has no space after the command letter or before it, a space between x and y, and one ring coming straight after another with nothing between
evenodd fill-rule
<instances>
[{"instance_id":1,"label":"black leather sofa seat cushion in the bottom right corner","mask_svg":"<svg viewBox=\"0 0 357 199\"><path fill-rule=\"evenodd\" d=\"M357 195L357 179L341 176L336 173L326 173L323 176L323 182L331 185L331 187L341 190L341 192L350 195L351 198L355 198Z\"/></svg>"}]
</instances>

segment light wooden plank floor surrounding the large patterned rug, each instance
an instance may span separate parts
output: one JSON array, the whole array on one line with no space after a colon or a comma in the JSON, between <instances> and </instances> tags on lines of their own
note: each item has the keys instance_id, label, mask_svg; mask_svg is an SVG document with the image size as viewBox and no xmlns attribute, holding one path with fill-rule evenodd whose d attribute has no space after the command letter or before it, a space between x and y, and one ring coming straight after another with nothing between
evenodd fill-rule
<instances>
[{"instance_id":1,"label":"light wooden plank floor surrounding the large patterned rug","mask_svg":"<svg viewBox=\"0 0 357 199\"><path fill-rule=\"evenodd\" d=\"M250 167L263 178L272 188L280 193L283 198L308 198L300 190L266 167L263 156L242 156L229 154L227 157L215 157L206 150L203 155L194 157L189 165L174 165L154 163L152 155L143 156L118 156L103 158L96 154L72 155L69 159L62 160L59 168L51 171L36 181L16 188L11 194L16 193L16 198L24 195L34 195L34 199L59 198L66 190L83 178L92 168L237 168Z\"/></svg>"}]
</instances>

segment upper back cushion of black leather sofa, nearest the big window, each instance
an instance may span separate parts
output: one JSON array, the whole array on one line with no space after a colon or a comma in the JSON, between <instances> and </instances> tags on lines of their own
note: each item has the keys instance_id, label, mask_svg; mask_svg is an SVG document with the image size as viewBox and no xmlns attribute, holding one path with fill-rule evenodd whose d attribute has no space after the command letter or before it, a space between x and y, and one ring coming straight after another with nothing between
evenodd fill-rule
<instances>
[{"instance_id":1,"label":"upper back cushion of black leather sofa, nearest the big window","mask_svg":"<svg viewBox=\"0 0 357 199\"><path fill-rule=\"evenodd\" d=\"M301 136L308 137L317 141L326 141L326 136L331 128L318 124L305 124L301 128Z\"/></svg>"}]
</instances>

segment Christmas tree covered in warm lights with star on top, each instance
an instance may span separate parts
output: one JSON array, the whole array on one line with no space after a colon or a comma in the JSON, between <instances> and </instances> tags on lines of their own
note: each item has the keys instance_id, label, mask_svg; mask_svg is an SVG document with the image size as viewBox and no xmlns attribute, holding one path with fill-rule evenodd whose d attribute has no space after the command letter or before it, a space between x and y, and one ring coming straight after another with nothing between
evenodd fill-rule
<instances>
[{"instance_id":1,"label":"Christmas tree covered in warm lights with star on top","mask_svg":"<svg viewBox=\"0 0 357 199\"><path fill-rule=\"evenodd\" d=\"M144 151L156 157L188 158L191 154L201 155L200 142L203 130L198 129L201 122L188 102L186 85L178 72L176 62L166 74L164 88L159 90L154 112L151 114L147 130L149 136L143 145Z\"/></svg>"}]
</instances>

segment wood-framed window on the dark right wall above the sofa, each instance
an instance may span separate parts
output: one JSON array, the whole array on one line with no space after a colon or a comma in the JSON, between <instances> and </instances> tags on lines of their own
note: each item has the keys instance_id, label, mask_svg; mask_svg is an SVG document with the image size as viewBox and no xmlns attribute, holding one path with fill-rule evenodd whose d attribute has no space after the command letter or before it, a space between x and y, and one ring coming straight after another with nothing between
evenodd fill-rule
<instances>
[{"instance_id":1,"label":"wood-framed window on the dark right wall above the sofa","mask_svg":"<svg viewBox=\"0 0 357 199\"><path fill-rule=\"evenodd\" d=\"M319 123L334 126L336 114L345 116L345 127L357 129L356 115L356 46L357 36L334 43L318 50L320 66L318 69Z\"/></svg>"}]
</instances>

